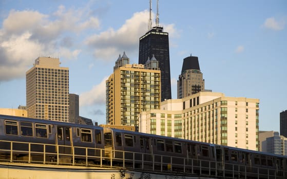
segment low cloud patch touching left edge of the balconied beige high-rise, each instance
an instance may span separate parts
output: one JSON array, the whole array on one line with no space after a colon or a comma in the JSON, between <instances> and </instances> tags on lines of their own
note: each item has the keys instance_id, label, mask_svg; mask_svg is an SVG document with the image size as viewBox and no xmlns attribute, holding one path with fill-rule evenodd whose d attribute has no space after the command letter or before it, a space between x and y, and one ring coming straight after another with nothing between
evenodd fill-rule
<instances>
[{"instance_id":1,"label":"low cloud patch touching left edge of the balconied beige high-rise","mask_svg":"<svg viewBox=\"0 0 287 179\"><path fill-rule=\"evenodd\" d=\"M105 77L100 84L95 85L88 92L82 93L79 97L80 106L90 106L94 104L105 104L106 102L106 80Z\"/></svg>"}]
</instances>

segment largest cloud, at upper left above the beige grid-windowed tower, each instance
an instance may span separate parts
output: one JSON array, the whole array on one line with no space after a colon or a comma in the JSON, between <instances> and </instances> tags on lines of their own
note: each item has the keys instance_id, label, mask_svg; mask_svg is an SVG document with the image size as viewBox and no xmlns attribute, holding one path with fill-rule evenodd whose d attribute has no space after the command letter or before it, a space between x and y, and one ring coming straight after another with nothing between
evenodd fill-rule
<instances>
[{"instance_id":1,"label":"largest cloud, at upper left above the beige grid-windowed tower","mask_svg":"<svg viewBox=\"0 0 287 179\"><path fill-rule=\"evenodd\" d=\"M0 26L0 81L25 77L40 54L59 52L64 60L76 59L82 50L73 47L73 36L100 25L99 19L88 13L85 9L66 10L64 6L52 15L11 10Z\"/></svg>"}]
</instances>

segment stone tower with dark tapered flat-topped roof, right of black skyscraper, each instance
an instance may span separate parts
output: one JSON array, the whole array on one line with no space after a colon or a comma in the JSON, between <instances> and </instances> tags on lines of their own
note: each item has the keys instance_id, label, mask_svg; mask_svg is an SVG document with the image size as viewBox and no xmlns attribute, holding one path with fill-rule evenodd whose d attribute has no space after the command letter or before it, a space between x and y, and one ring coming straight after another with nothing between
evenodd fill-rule
<instances>
[{"instance_id":1,"label":"stone tower with dark tapered flat-topped roof, right of black skyscraper","mask_svg":"<svg viewBox=\"0 0 287 179\"><path fill-rule=\"evenodd\" d=\"M181 74L177 81L177 98L204 91L203 74L200 72L198 57L189 56L183 59Z\"/></svg>"}]
</instances>

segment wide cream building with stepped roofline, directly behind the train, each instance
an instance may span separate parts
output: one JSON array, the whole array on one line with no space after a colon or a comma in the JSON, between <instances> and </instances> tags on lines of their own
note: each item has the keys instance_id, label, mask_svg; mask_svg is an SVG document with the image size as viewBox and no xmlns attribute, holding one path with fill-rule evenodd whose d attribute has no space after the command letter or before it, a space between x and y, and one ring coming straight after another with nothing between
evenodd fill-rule
<instances>
[{"instance_id":1,"label":"wide cream building with stepped roofline, directly behind the train","mask_svg":"<svg viewBox=\"0 0 287 179\"><path fill-rule=\"evenodd\" d=\"M143 111L139 131L258 150L259 99L199 92Z\"/></svg>"}]
</instances>

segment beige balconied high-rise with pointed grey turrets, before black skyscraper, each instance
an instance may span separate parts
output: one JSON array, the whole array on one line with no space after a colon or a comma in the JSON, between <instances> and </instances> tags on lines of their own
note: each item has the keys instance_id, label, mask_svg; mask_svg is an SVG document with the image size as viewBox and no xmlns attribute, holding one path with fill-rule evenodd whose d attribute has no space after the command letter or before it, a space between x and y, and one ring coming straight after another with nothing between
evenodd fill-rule
<instances>
[{"instance_id":1,"label":"beige balconied high-rise with pointed grey turrets, before black skyscraper","mask_svg":"<svg viewBox=\"0 0 287 179\"><path fill-rule=\"evenodd\" d=\"M125 53L119 56L106 80L106 123L137 127L141 111L160 109L160 74L154 57L143 65L129 64Z\"/></svg>"}]
</instances>

